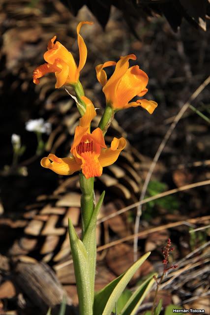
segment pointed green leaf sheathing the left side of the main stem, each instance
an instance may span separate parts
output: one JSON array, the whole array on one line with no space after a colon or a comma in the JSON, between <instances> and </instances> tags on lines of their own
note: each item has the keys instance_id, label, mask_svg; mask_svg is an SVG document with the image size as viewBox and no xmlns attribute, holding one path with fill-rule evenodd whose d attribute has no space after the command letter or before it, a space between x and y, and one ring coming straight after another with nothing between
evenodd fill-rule
<instances>
[{"instance_id":1,"label":"pointed green leaf sheathing the left side of the main stem","mask_svg":"<svg viewBox=\"0 0 210 315\"><path fill-rule=\"evenodd\" d=\"M68 231L74 263L80 315L92 315L88 254L83 242L77 236L70 219L68 219Z\"/></svg>"}]
</instances>

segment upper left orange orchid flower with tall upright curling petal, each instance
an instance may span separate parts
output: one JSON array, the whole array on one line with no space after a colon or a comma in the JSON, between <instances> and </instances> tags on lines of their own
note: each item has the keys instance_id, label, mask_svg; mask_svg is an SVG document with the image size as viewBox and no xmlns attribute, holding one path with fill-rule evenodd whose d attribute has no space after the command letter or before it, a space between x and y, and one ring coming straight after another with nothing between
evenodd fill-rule
<instances>
[{"instance_id":1,"label":"upper left orange orchid flower with tall upright curling petal","mask_svg":"<svg viewBox=\"0 0 210 315\"><path fill-rule=\"evenodd\" d=\"M92 24L93 22L80 22L77 26L77 38L80 54L80 62L77 66L72 54L59 42L54 36L48 43L47 52L44 53L44 60L47 63L39 65L33 71L33 83L39 84L39 78L46 73L55 72L56 88L60 88L64 84L77 83L80 71L84 67L87 59L87 47L84 39L80 35L80 29L83 24Z\"/></svg>"}]
</instances>

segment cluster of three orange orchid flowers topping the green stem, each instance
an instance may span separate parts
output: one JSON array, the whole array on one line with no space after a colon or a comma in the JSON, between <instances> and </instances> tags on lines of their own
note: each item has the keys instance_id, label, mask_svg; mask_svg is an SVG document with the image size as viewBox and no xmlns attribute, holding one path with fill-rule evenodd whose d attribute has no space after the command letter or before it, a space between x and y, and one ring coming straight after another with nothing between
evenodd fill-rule
<instances>
[{"instance_id":1,"label":"cluster of three orange orchid flowers topping the green stem","mask_svg":"<svg viewBox=\"0 0 210 315\"><path fill-rule=\"evenodd\" d=\"M104 141L104 133L107 128L102 132L101 129L103 128L99 125L100 127L90 133L90 123L96 112L90 99L84 95L83 89L81 90L79 81L80 71L87 59L87 47L83 37L80 35L80 29L83 24L92 24L92 22L80 22L77 27L79 65L76 65L72 54L59 41L56 41L56 36L54 36L49 41L48 50L44 54L46 63L38 66L33 71L33 82L39 84L39 78L49 72L54 72L57 79L56 88L60 88L63 85L74 87L76 95L86 110L84 115L82 114L79 126L77 126L75 131L74 141L70 150L71 156L58 158L54 154L49 154L47 158L42 158L41 165L60 175L70 175L75 171L81 170L88 179L101 176L103 167L116 161L120 151L124 149L126 141L124 138L114 138L111 147L107 148ZM136 56L127 55L121 57L117 63L108 61L96 66L96 76L103 87L106 107L111 108L113 114L112 118L111 116L108 117L107 121L109 122L113 119L114 113L120 109L141 106L152 114L157 107L157 103L153 100L139 98L136 101L132 101L134 97L142 97L148 92L149 78L138 65L129 67L129 59L136 60ZM107 80L104 68L113 65L115 66L114 73ZM31 126L32 122L28 124L28 130L32 128Z\"/></svg>"}]
</instances>

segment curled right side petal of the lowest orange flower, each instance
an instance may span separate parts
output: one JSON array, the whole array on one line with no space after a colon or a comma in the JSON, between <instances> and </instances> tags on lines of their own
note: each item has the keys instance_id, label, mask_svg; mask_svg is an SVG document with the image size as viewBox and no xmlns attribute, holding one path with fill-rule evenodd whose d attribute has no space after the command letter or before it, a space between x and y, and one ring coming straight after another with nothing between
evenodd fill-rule
<instances>
[{"instance_id":1,"label":"curled right side petal of the lowest orange flower","mask_svg":"<svg viewBox=\"0 0 210 315\"><path fill-rule=\"evenodd\" d=\"M98 158L99 163L102 167L113 164L119 157L120 152L126 146L125 138L121 137L120 139L114 138L111 143L111 148L104 149L101 151L101 154Z\"/></svg>"}]
</instances>

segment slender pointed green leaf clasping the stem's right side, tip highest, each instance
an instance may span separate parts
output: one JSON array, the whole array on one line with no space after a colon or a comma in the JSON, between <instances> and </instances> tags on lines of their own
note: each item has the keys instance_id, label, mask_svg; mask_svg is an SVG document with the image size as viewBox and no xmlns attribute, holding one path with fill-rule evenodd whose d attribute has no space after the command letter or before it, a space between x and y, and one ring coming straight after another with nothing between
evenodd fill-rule
<instances>
[{"instance_id":1,"label":"slender pointed green leaf clasping the stem's right side, tip highest","mask_svg":"<svg viewBox=\"0 0 210 315\"><path fill-rule=\"evenodd\" d=\"M83 244L85 245L87 254L88 254L88 264L89 264L89 274L90 274L90 288L92 301L94 299L94 283L95 283L95 265L96 265L96 221L97 215L100 211L101 205L103 203L105 191L102 192L95 209L93 210L90 223L87 227L83 238Z\"/></svg>"}]
</instances>

